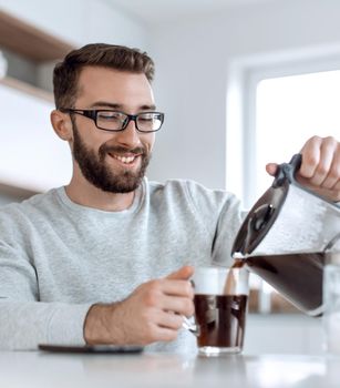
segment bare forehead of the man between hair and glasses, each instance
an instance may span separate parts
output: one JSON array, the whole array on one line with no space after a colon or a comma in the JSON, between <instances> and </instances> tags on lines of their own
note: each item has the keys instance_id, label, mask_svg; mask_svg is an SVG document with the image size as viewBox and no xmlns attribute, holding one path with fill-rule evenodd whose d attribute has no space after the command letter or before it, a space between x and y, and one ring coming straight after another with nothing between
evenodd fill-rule
<instances>
[{"instance_id":1,"label":"bare forehead of the man between hair and glasses","mask_svg":"<svg viewBox=\"0 0 340 388\"><path fill-rule=\"evenodd\" d=\"M151 84L143 73L102 67L85 67L78 81L76 104L106 101L122 105L153 104Z\"/></svg>"}]
</instances>

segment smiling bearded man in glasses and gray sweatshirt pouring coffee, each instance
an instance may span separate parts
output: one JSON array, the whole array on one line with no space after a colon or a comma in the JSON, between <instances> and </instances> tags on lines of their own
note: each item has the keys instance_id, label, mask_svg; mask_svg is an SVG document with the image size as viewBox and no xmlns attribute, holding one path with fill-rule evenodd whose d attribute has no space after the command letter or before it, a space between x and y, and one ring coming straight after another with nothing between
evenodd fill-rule
<instances>
[{"instance_id":1,"label":"smiling bearded man in glasses and gray sweatshirt pouring coffee","mask_svg":"<svg viewBox=\"0 0 340 388\"><path fill-rule=\"evenodd\" d=\"M0 345L136 344L185 350L194 266L230 264L238 201L190 181L144 176L163 123L153 61L89 44L54 70L55 133L69 142L65 187L0 213ZM312 137L300 180L340 200L340 145ZM275 173L276 165L267 170Z\"/></svg>"}]
</instances>

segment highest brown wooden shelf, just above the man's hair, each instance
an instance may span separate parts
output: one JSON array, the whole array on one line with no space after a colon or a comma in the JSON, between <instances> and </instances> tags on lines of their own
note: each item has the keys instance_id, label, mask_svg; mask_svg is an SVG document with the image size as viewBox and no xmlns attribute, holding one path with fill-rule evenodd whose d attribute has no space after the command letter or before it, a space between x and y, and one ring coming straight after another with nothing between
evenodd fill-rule
<instances>
[{"instance_id":1,"label":"highest brown wooden shelf, just above the man's hair","mask_svg":"<svg viewBox=\"0 0 340 388\"><path fill-rule=\"evenodd\" d=\"M73 47L0 11L0 47L38 62L63 58Z\"/></svg>"}]
</instances>

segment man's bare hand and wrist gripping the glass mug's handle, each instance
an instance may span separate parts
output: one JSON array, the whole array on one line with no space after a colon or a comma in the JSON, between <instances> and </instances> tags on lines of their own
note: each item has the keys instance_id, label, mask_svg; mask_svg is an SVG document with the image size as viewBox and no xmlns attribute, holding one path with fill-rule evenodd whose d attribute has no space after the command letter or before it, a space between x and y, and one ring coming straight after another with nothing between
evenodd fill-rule
<instances>
[{"instance_id":1,"label":"man's bare hand and wrist gripping the glass mug's handle","mask_svg":"<svg viewBox=\"0 0 340 388\"><path fill-rule=\"evenodd\" d=\"M176 339L182 316L194 314L194 268L138 286L123 302L93 305L84 323L86 344L148 345Z\"/></svg>"}]
</instances>

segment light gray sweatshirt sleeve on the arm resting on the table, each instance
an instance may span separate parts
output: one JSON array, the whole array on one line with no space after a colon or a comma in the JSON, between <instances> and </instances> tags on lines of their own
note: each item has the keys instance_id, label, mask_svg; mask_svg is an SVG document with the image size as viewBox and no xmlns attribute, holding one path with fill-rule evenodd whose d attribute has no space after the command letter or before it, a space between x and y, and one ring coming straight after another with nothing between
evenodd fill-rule
<instances>
[{"instance_id":1,"label":"light gray sweatshirt sleeve on the arm resting on the table","mask_svg":"<svg viewBox=\"0 0 340 388\"><path fill-rule=\"evenodd\" d=\"M20 234L0 219L0 349L37 349L39 344L82 345L90 304L39 302L39 282ZM22 242L21 242L22 243Z\"/></svg>"}]
</instances>

